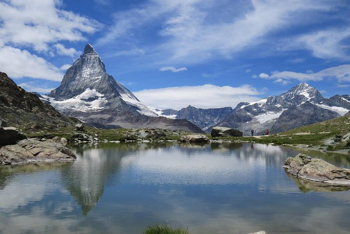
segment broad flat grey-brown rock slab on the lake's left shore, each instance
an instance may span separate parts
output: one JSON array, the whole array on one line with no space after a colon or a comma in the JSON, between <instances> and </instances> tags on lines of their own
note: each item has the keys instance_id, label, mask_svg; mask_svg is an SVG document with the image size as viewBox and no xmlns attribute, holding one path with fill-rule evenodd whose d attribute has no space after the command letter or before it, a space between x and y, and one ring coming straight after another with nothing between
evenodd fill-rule
<instances>
[{"instance_id":1,"label":"broad flat grey-brown rock slab on the lake's left shore","mask_svg":"<svg viewBox=\"0 0 350 234\"><path fill-rule=\"evenodd\" d=\"M54 138L55 139L55 138ZM0 163L18 164L39 161L71 161L76 156L58 140L39 141L24 139L16 145L6 145L0 149Z\"/></svg>"}]
</instances>

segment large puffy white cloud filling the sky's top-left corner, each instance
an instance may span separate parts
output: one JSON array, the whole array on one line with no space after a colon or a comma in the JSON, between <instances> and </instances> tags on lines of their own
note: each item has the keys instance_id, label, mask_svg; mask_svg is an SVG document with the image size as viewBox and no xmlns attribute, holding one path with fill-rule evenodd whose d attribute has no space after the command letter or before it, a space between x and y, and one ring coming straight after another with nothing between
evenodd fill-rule
<instances>
[{"instance_id":1,"label":"large puffy white cloud filling the sky's top-left corner","mask_svg":"<svg viewBox=\"0 0 350 234\"><path fill-rule=\"evenodd\" d=\"M83 33L102 27L96 20L59 8L57 0L6 0L0 2L0 46L8 43L48 51L61 40L86 40Z\"/></svg>"}]
</instances>

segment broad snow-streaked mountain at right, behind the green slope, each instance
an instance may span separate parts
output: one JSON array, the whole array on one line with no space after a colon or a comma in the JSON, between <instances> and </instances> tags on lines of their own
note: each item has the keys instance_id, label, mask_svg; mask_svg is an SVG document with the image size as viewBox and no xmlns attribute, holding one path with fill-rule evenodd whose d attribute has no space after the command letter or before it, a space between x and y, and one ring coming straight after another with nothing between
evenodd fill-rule
<instances>
[{"instance_id":1,"label":"broad snow-streaked mountain at right, behind the green slope","mask_svg":"<svg viewBox=\"0 0 350 234\"><path fill-rule=\"evenodd\" d=\"M348 96L344 96L343 102L334 97L324 98L317 89L303 82L276 97L239 103L235 112L216 126L238 128L245 134L251 129L257 134L266 129L270 133L282 132L345 115L350 110Z\"/></svg>"}]
</instances>

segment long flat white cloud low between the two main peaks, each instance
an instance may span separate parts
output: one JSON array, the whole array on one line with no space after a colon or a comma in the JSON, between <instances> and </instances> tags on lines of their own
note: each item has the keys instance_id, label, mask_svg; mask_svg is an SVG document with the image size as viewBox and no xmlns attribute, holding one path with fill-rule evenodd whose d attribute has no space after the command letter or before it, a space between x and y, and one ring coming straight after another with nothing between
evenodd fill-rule
<instances>
[{"instance_id":1,"label":"long flat white cloud low between the two main peaks","mask_svg":"<svg viewBox=\"0 0 350 234\"><path fill-rule=\"evenodd\" d=\"M205 84L201 86L147 89L133 93L147 106L160 109L181 109L188 105L198 108L217 108L225 106L234 108L241 101L257 101L261 99L256 97L260 95L261 92L250 85L221 87Z\"/></svg>"}]
</instances>

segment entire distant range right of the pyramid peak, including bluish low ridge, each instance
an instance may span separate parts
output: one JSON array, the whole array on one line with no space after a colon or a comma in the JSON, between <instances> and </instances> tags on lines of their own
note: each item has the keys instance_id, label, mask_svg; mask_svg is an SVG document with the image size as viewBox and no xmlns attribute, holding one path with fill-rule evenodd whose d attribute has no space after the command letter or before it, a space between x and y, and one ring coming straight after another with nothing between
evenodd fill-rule
<instances>
[{"instance_id":1,"label":"entire distant range right of the pyramid peak, including bluish low ridge","mask_svg":"<svg viewBox=\"0 0 350 234\"><path fill-rule=\"evenodd\" d=\"M269 96L257 102L240 102L235 109L230 107L200 109L188 106L179 111L158 110L159 115L186 118L210 132L214 126L235 128L245 135L254 129L262 134L287 131L345 115L350 110L350 96L324 98L317 89L303 82L276 97Z\"/></svg>"}]
</instances>

